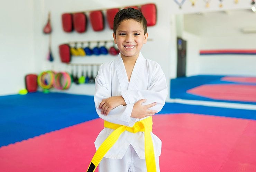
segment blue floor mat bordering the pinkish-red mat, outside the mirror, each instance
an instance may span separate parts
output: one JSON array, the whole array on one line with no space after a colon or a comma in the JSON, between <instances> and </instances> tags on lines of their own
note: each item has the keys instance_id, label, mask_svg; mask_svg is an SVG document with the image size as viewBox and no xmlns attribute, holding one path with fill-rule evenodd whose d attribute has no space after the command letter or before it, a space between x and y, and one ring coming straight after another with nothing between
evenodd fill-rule
<instances>
[{"instance_id":1,"label":"blue floor mat bordering the pinkish-red mat, outside the mirror","mask_svg":"<svg viewBox=\"0 0 256 172\"><path fill-rule=\"evenodd\" d=\"M166 103L159 114L194 113L256 119L255 110ZM62 93L0 96L0 147L98 118L93 96Z\"/></svg>"}]
</instances>

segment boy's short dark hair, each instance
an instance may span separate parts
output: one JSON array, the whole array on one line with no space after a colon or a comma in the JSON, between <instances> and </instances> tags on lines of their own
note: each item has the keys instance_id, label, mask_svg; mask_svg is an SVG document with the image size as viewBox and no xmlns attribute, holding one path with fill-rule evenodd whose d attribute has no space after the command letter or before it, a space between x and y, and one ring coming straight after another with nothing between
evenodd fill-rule
<instances>
[{"instance_id":1,"label":"boy's short dark hair","mask_svg":"<svg viewBox=\"0 0 256 172\"><path fill-rule=\"evenodd\" d=\"M147 33L147 20L142 14L142 12L135 8L127 8L118 11L114 18L113 31L116 35L116 31L120 23L124 20L133 19L136 22L139 22L143 26L144 34Z\"/></svg>"}]
</instances>

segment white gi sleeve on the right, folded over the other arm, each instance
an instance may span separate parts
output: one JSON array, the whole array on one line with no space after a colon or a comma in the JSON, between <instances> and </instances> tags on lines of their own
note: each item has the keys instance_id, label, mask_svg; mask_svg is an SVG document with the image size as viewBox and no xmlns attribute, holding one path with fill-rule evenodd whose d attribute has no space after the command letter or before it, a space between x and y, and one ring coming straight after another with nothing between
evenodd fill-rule
<instances>
[{"instance_id":1,"label":"white gi sleeve on the right, folded over the other arm","mask_svg":"<svg viewBox=\"0 0 256 172\"><path fill-rule=\"evenodd\" d=\"M125 103L127 105L134 104L137 101L146 98L147 101L143 105L156 102L157 105L150 109L156 110L157 112L163 108L167 94L166 78L160 65L158 65L153 72L152 79L147 90L125 90L121 92L121 96L125 99Z\"/></svg>"}]
</instances>

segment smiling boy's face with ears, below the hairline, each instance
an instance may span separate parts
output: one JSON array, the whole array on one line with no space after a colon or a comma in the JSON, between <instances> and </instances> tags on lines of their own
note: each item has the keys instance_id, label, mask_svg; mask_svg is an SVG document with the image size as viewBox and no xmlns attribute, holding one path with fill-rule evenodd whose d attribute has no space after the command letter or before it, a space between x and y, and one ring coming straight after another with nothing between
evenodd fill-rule
<instances>
[{"instance_id":1,"label":"smiling boy's face with ears, below the hairline","mask_svg":"<svg viewBox=\"0 0 256 172\"><path fill-rule=\"evenodd\" d=\"M143 26L133 19L124 20L113 33L113 38L121 52L121 57L138 58L142 45L147 42L148 33L144 35Z\"/></svg>"}]
</instances>

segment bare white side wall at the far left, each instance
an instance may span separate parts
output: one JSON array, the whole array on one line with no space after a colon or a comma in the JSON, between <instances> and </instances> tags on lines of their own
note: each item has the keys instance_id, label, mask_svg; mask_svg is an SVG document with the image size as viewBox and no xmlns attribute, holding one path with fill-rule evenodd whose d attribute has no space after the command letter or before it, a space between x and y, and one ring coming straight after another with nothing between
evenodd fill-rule
<instances>
[{"instance_id":1,"label":"bare white side wall at the far left","mask_svg":"<svg viewBox=\"0 0 256 172\"><path fill-rule=\"evenodd\" d=\"M35 71L33 0L1 1L0 95L18 94Z\"/></svg>"}]
</instances>

